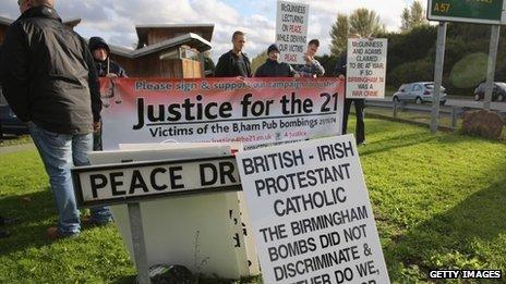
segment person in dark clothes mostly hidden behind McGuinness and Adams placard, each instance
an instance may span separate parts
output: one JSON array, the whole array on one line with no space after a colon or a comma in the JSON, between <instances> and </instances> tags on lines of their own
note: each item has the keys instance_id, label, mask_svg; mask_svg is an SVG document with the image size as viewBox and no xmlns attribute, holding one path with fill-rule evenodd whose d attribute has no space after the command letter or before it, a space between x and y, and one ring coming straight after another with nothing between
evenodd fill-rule
<instances>
[{"instance_id":1,"label":"person in dark clothes mostly hidden behind McGuinness and Adams placard","mask_svg":"<svg viewBox=\"0 0 506 284\"><path fill-rule=\"evenodd\" d=\"M350 38L360 38L360 35L351 35ZM346 70L348 65L348 52L345 50L341 53L341 57L337 61L335 74L340 79L346 81ZM351 103L354 104L354 112L357 116L357 127L356 127L356 139L358 145L365 144L365 123L364 123L364 108L365 99L345 99L345 110L342 118L342 134L347 133L348 128L348 115L350 114Z\"/></svg>"}]
</instances>

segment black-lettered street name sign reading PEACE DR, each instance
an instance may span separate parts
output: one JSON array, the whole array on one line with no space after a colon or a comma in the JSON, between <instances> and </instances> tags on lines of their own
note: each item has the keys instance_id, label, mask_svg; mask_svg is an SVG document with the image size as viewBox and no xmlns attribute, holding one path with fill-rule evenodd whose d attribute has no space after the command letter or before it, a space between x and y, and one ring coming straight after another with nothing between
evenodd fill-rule
<instances>
[{"instance_id":1,"label":"black-lettered street name sign reading PEACE DR","mask_svg":"<svg viewBox=\"0 0 506 284\"><path fill-rule=\"evenodd\" d=\"M89 165L71 171L80 206L240 189L233 157Z\"/></svg>"}]
</instances>

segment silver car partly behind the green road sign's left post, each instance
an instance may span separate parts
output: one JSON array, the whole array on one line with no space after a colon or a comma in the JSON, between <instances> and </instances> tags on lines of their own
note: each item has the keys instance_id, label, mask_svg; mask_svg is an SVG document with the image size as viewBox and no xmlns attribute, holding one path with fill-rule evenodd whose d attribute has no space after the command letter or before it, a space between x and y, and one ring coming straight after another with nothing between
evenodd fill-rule
<instances>
[{"instance_id":1,"label":"silver car partly behind the green road sign's left post","mask_svg":"<svg viewBox=\"0 0 506 284\"><path fill-rule=\"evenodd\" d=\"M433 82L417 82L402 84L391 98L394 101L414 102L421 104L423 102L432 102L434 94ZM446 89L442 86L439 94L439 103L446 103Z\"/></svg>"}]
</instances>

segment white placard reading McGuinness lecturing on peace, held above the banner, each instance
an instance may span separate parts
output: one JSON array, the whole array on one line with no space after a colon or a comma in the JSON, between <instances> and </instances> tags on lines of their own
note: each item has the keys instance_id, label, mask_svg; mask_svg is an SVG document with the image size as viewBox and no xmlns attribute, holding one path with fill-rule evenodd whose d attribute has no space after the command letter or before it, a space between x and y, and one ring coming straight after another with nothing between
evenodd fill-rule
<instances>
[{"instance_id":1,"label":"white placard reading McGuinness lecturing on peace, held above the banner","mask_svg":"<svg viewBox=\"0 0 506 284\"><path fill-rule=\"evenodd\" d=\"M305 64L310 5L278 1L276 16L276 45L279 61L289 64Z\"/></svg>"}]
</instances>

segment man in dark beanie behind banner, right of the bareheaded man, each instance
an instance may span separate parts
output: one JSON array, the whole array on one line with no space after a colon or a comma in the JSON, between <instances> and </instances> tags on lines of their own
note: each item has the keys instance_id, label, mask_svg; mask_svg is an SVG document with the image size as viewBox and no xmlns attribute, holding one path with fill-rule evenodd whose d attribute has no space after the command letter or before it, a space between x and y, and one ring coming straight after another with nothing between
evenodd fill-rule
<instances>
[{"instance_id":1,"label":"man in dark beanie behind banner, right of the bareheaded man","mask_svg":"<svg viewBox=\"0 0 506 284\"><path fill-rule=\"evenodd\" d=\"M279 62L279 48L270 45L267 60L255 72L255 77L299 77L299 74L285 62Z\"/></svg>"}]
</instances>

